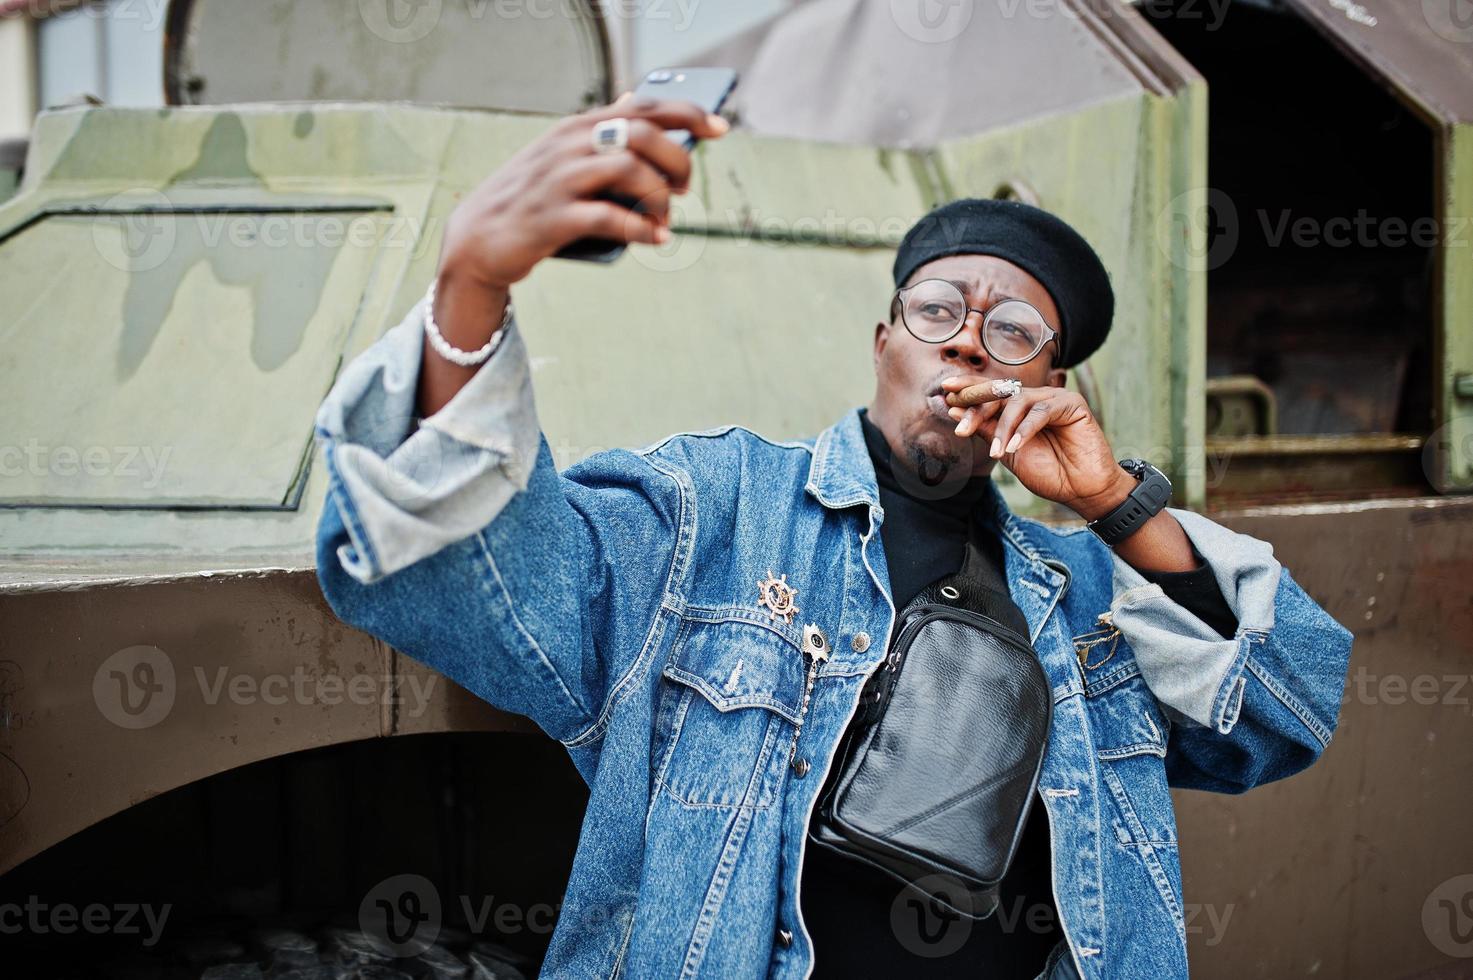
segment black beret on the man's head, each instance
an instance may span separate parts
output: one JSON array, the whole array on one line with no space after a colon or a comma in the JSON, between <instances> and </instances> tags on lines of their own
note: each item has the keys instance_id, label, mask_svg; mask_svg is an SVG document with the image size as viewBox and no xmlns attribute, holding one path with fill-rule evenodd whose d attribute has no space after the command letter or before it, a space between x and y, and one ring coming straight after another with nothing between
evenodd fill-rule
<instances>
[{"instance_id":1,"label":"black beret on the man's head","mask_svg":"<svg viewBox=\"0 0 1473 980\"><path fill-rule=\"evenodd\" d=\"M944 255L996 255L1043 283L1059 308L1059 367L1074 367L1105 343L1115 292L1099 255L1061 218L1019 200L963 197L935 208L906 231L896 252L896 286Z\"/></svg>"}]
</instances>

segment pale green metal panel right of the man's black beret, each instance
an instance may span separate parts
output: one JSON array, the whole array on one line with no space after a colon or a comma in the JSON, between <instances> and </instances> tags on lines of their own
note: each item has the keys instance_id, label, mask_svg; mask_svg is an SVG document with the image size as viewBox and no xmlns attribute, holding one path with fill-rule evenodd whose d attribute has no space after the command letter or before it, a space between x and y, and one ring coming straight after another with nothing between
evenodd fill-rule
<instances>
[{"instance_id":1,"label":"pale green metal panel right of the man's black beret","mask_svg":"<svg viewBox=\"0 0 1473 980\"><path fill-rule=\"evenodd\" d=\"M1119 455L1161 460L1178 500L1200 505L1205 287L1173 237L1200 228L1171 215L1205 195L1205 85L953 140L937 158L949 196L991 196L1021 183L1099 251L1115 289L1115 324L1074 383ZM1000 479L1015 505L1037 508Z\"/></svg>"}]
</instances>

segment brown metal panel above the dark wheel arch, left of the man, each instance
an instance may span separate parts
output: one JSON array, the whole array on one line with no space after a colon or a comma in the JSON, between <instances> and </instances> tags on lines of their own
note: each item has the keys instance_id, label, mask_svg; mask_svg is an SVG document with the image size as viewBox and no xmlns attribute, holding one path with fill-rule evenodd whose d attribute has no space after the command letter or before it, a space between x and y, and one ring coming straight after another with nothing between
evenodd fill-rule
<instances>
[{"instance_id":1,"label":"brown metal panel above the dark wheel arch, left of the man","mask_svg":"<svg viewBox=\"0 0 1473 980\"><path fill-rule=\"evenodd\" d=\"M539 731L343 626L311 572L0 595L0 874L261 759Z\"/></svg>"}]
</instances>

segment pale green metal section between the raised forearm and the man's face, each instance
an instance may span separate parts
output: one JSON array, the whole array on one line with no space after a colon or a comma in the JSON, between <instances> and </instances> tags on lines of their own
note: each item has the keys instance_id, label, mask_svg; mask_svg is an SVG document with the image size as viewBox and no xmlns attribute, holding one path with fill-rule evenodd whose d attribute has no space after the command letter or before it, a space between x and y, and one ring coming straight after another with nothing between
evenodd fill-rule
<instances>
[{"instance_id":1,"label":"pale green metal section between the raised forearm and the man's face","mask_svg":"<svg viewBox=\"0 0 1473 980\"><path fill-rule=\"evenodd\" d=\"M666 256L697 256L683 268L638 248L617 273L545 262L520 290L558 466L734 421L812 436L873 396L888 249L703 236L683 246Z\"/></svg>"}]
</instances>

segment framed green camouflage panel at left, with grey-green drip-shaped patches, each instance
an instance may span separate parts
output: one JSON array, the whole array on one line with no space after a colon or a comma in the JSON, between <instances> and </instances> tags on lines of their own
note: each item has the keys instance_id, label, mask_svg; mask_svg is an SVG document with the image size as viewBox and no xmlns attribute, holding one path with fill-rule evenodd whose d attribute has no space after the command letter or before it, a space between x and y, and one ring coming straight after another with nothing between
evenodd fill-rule
<instances>
[{"instance_id":1,"label":"framed green camouflage panel at left, with grey-green drip-shaped patches","mask_svg":"<svg viewBox=\"0 0 1473 980\"><path fill-rule=\"evenodd\" d=\"M115 211L0 240L0 504L295 505L383 224Z\"/></svg>"}]
</instances>

